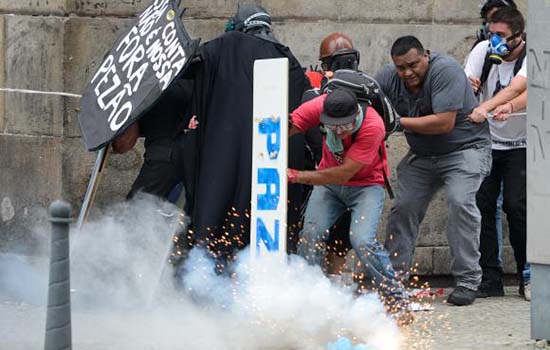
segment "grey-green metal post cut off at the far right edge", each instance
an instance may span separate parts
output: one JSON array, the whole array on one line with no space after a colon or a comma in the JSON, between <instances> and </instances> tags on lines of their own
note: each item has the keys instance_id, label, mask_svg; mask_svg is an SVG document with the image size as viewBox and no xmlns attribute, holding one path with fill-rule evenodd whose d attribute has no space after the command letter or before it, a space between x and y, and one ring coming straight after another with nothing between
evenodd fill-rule
<instances>
[{"instance_id":1,"label":"grey-green metal post cut off at the far right edge","mask_svg":"<svg viewBox=\"0 0 550 350\"><path fill-rule=\"evenodd\" d=\"M527 260L531 336L550 339L550 1L529 0L527 41Z\"/></svg>"}]
</instances>

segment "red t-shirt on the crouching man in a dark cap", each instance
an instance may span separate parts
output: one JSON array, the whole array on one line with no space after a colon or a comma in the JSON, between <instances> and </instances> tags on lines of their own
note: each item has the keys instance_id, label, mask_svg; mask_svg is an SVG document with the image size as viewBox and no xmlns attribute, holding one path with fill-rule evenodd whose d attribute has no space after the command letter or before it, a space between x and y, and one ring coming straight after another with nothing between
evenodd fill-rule
<instances>
[{"instance_id":1,"label":"red t-shirt on the crouching man in a dark cap","mask_svg":"<svg viewBox=\"0 0 550 350\"><path fill-rule=\"evenodd\" d=\"M292 124L300 131L319 125L323 103L327 95L321 95L308 101L298 107L291 114ZM342 143L344 145L343 158L350 158L363 164L350 181L344 183L345 186L366 186L382 185L384 186L383 169L389 176L388 161L386 156L386 147L384 146L385 136L384 122L382 118L372 107L367 108L363 123L352 140L352 135L348 136ZM323 158L319 164L319 169L327 169L341 165L334 154L330 152L323 136ZM380 156L380 147L382 147L382 157Z\"/></svg>"}]
</instances>

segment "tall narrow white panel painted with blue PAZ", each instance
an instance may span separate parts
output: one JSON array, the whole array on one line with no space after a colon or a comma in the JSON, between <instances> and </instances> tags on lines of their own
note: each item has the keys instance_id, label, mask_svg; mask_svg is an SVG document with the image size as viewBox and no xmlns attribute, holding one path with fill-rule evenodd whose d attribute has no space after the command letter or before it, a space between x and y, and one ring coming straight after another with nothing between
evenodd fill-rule
<instances>
[{"instance_id":1,"label":"tall narrow white panel painted with blue PAZ","mask_svg":"<svg viewBox=\"0 0 550 350\"><path fill-rule=\"evenodd\" d=\"M254 62L252 147L253 257L286 254L288 59Z\"/></svg>"}]
</instances>

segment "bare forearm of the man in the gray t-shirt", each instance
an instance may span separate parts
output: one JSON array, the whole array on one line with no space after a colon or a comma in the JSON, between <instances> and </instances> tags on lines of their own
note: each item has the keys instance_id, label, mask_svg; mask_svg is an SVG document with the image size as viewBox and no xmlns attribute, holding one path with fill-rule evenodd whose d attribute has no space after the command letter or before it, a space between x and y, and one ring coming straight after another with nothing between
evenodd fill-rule
<instances>
[{"instance_id":1,"label":"bare forearm of the man in the gray t-shirt","mask_svg":"<svg viewBox=\"0 0 550 350\"><path fill-rule=\"evenodd\" d=\"M456 111L435 113L423 117L401 117L403 129L419 134L440 135L453 130L456 120Z\"/></svg>"}]
</instances>

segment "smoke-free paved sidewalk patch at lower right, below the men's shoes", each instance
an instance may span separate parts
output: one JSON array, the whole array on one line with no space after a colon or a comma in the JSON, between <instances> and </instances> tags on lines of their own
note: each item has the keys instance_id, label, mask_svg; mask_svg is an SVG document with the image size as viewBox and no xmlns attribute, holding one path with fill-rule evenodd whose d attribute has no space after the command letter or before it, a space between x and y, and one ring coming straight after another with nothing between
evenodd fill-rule
<instances>
[{"instance_id":1,"label":"smoke-free paved sidewalk patch at lower right, below the men's shoes","mask_svg":"<svg viewBox=\"0 0 550 350\"><path fill-rule=\"evenodd\" d=\"M433 303L434 311L417 313L415 324L405 330L403 350L535 348L530 339L531 304L518 295L517 287L506 288L505 297L476 299L464 307L445 304L444 299Z\"/></svg>"}]
</instances>

